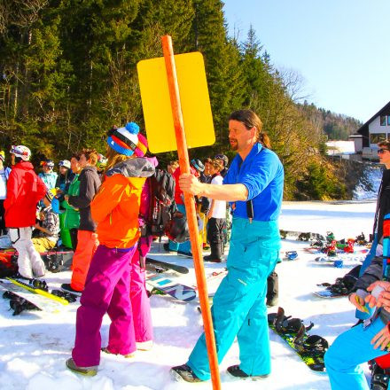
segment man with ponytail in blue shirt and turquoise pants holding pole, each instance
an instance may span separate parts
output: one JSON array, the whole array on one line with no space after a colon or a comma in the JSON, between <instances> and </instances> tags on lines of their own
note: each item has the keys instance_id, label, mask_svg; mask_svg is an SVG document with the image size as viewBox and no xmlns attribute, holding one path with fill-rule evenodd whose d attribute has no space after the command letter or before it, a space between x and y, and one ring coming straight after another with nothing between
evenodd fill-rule
<instances>
[{"instance_id":1,"label":"man with ponytail in blue shirt and turquoise pants holding pole","mask_svg":"<svg viewBox=\"0 0 390 390\"><path fill-rule=\"evenodd\" d=\"M229 141L238 152L224 185L199 183L180 176L180 187L192 195L227 200L234 210L228 275L214 296L212 315L218 361L237 337L240 363L230 375L261 378L270 372L269 328L265 297L267 277L280 249L278 217L282 206L284 169L269 147L259 117L250 110L230 114ZM210 378L205 334L186 364L174 367L175 378L199 382Z\"/></svg>"}]
</instances>

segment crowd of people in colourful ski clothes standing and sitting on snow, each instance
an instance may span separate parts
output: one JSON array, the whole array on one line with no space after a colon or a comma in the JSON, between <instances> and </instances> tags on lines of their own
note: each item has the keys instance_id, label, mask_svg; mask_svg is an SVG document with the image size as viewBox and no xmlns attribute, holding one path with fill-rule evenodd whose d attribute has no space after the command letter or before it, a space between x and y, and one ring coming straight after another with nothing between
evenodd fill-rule
<instances>
[{"instance_id":1,"label":"crowd of people in colourful ski clothes standing and sitting on snow","mask_svg":"<svg viewBox=\"0 0 390 390\"><path fill-rule=\"evenodd\" d=\"M275 300L279 259L278 217L283 199L284 168L272 152L260 118L251 110L230 114L229 142L237 152L229 166L224 154L203 162L191 160L182 174L178 161L168 163L175 178L175 204L185 215L183 191L193 195L205 261L225 261L228 274L214 295L212 317L218 361L238 339L240 363L228 368L237 378L264 378L271 371L266 303ZM105 156L82 149L70 160L44 160L35 174L31 152L12 146L11 167L0 152L0 233L18 252L20 277L43 277L40 253L62 243L74 249L72 277L61 288L81 296L69 370L93 376L100 354L131 357L152 347L151 308L145 288L145 257L152 235L140 234L149 212L151 177L158 161L147 157L147 140L135 122L110 129ZM358 323L335 340L325 354L332 389L368 389L361 363L390 368L390 142L378 144L385 164L374 223L375 239L350 301ZM38 210L38 211L37 211ZM143 219L141 221L140 219ZM230 235L231 222L231 235ZM34 237L33 237L34 231ZM169 240L167 252L191 257L191 241ZM372 308L376 308L373 311ZM105 313L111 319L108 344L101 345ZM382 356L382 357L381 357ZM387 355L388 356L388 355ZM376 359L376 360L374 360ZM206 337L202 334L186 363L172 374L188 382L210 378Z\"/></svg>"}]
</instances>

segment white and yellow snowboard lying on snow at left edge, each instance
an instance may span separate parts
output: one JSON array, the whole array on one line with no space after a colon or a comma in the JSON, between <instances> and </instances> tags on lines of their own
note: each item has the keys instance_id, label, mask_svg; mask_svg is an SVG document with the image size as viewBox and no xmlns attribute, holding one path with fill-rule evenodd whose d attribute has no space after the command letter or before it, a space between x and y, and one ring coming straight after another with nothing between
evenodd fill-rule
<instances>
[{"instance_id":1,"label":"white and yellow snowboard lying on snow at left edge","mask_svg":"<svg viewBox=\"0 0 390 390\"><path fill-rule=\"evenodd\" d=\"M64 308L64 305L67 304L67 300L66 303L63 303L59 300L53 300L48 298L46 295L35 292L34 288L28 290L24 286L17 285L14 283L13 279L0 280L0 289L3 292L12 292L12 296L19 297L21 300L26 300L38 310L46 311L48 313L58 313ZM49 292L47 293L50 294ZM20 301L20 304L22 303L23 301ZM14 314L19 314L16 309L14 310Z\"/></svg>"}]
</instances>

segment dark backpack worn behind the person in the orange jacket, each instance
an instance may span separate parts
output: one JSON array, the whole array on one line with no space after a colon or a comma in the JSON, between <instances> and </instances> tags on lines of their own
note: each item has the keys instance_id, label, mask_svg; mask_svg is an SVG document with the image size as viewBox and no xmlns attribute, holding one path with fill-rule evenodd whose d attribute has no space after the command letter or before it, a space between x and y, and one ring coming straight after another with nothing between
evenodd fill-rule
<instances>
[{"instance_id":1,"label":"dark backpack worn behind the person in the orange jacket","mask_svg":"<svg viewBox=\"0 0 390 390\"><path fill-rule=\"evenodd\" d=\"M156 169L147 180L151 197L149 214L144 218L145 225L141 235L161 237L166 234L176 211L175 179L166 170Z\"/></svg>"}]
</instances>

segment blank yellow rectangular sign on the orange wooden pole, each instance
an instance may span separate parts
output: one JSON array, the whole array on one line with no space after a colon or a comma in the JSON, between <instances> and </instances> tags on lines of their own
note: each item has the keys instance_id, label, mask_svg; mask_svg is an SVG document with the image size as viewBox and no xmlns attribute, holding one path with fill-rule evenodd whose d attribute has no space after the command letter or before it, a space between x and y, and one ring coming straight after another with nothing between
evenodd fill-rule
<instances>
[{"instance_id":1,"label":"blank yellow rectangular sign on the orange wooden pole","mask_svg":"<svg viewBox=\"0 0 390 390\"><path fill-rule=\"evenodd\" d=\"M199 51L175 55L177 82L187 146L214 144L214 125L208 98L203 56ZM177 150L164 58L139 61L136 65L144 123L152 153Z\"/></svg>"}]
</instances>

